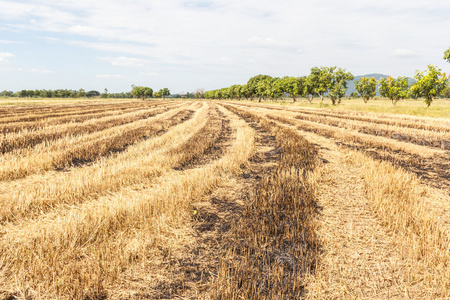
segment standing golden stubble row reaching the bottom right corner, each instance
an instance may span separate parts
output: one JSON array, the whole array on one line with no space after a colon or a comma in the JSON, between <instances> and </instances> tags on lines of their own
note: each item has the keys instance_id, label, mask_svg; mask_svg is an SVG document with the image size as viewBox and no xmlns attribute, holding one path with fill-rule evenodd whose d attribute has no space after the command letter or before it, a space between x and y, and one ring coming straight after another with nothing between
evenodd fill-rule
<instances>
[{"instance_id":1,"label":"standing golden stubble row reaching the bottom right corner","mask_svg":"<svg viewBox=\"0 0 450 300\"><path fill-rule=\"evenodd\" d=\"M360 153L351 156L362 164L373 209L410 261L406 272L411 283L423 282L428 297L450 297L450 236L439 225L438 216L427 208L427 188L414 174L387 162L376 162Z\"/></svg>"}]
</instances>

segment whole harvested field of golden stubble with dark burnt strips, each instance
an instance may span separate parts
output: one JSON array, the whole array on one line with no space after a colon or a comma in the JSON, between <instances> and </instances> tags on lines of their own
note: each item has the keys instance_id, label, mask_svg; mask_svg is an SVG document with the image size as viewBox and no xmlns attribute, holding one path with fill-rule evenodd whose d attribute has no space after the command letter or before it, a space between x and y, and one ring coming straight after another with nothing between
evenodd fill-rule
<instances>
[{"instance_id":1,"label":"whole harvested field of golden stubble with dark burnt strips","mask_svg":"<svg viewBox=\"0 0 450 300\"><path fill-rule=\"evenodd\" d=\"M449 118L5 102L0 300L446 299L449 200Z\"/></svg>"}]
</instances>

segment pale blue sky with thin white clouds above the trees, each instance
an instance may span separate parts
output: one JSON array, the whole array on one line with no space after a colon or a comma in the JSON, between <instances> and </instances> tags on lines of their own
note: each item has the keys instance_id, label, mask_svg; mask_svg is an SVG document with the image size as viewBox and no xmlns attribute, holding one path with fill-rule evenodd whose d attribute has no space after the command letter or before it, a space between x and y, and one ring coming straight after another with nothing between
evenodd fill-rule
<instances>
[{"instance_id":1,"label":"pale blue sky with thin white clouds above the trees","mask_svg":"<svg viewBox=\"0 0 450 300\"><path fill-rule=\"evenodd\" d=\"M0 90L171 93L304 76L413 77L450 47L448 0L0 0Z\"/></svg>"}]
</instances>

